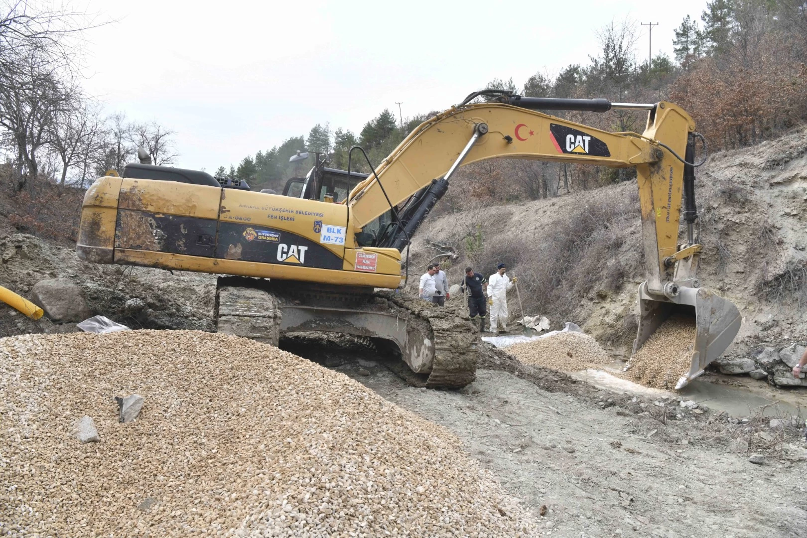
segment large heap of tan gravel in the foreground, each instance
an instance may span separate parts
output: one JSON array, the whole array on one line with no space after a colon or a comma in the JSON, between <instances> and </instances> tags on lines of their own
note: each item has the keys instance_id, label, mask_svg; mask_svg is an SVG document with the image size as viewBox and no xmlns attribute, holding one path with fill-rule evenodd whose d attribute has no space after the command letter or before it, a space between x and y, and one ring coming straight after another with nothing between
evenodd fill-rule
<instances>
[{"instance_id":1,"label":"large heap of tan gravel in the foreground","mask_svg":"<svg viewBox=\"0 0 807 538\"><path fill-rule=\"evenodd\" d=\"M145 398L119 423L113 397ZM73 425L88 415L98 442ZM0 339L0 535L530 536L443 427L192 331Z\"/></svg>"}]
</instances>

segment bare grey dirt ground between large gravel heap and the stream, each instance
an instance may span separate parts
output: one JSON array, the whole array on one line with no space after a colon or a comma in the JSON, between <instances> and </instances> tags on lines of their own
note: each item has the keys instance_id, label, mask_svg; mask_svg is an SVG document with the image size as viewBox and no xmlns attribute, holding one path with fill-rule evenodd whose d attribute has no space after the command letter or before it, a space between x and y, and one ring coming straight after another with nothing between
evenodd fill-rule
<instances>
[{"instance_id":1,"label":"bare grey dirt ground between large gravel heap and the stream","mask_svg":"<svg viewBox=\"0 0 807 538\"><path fill-rule=\"evenodd\" d=\"M415 389L371 348L310 344L281 345L449 428L544 513L541 536L807 536L807 464L754 444L760 432L771 435L767 419L734 424L708 408L684 411L675 398L618 395L525 369L504 354L483 361L462 390ZM783 436L797 441L801 432ZM734 452L738 438L751 448ZM755 448L763 465L748 459Z\"/></svg>"}]
</instances>

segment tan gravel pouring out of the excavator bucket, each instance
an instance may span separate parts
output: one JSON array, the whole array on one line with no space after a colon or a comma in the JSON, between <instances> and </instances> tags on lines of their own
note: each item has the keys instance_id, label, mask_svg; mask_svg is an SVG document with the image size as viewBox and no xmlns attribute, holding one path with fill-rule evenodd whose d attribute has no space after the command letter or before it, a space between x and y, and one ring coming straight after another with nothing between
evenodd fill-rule
<instances>
[{"instance_id":1,"label":"tan gravel pouring out of the excavator bucket","mask_svg":"<svg viewBox=\"0 0 807 538\"><path fill-rule=\"evenodd\" d=\"M675 389L691 366L696 330L694 318L671 315L631 357L625 377L656 389Z\"/></svg>"}]
</instances>

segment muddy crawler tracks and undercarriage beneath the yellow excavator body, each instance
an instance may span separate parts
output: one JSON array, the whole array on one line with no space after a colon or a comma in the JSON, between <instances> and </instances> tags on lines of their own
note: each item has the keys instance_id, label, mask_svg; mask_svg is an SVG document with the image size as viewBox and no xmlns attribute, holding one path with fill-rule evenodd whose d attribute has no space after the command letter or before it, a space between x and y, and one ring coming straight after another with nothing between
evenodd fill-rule
<instances>
[{"instance_id":1,"label":"muddy crawler tracks and undercarriage beneath the yellow excavator body","mask_svg":"<svg viewBox=\"0 0 807 538\"><path fill-rule=\"evenodd\" d=\"M479 330L462 306L437 307L372 288L220 277L215 319L217 332L273 345L290 332L367 337L408 384L461 388L474 381L479 352Z\"/></svg>"}]
</instances>

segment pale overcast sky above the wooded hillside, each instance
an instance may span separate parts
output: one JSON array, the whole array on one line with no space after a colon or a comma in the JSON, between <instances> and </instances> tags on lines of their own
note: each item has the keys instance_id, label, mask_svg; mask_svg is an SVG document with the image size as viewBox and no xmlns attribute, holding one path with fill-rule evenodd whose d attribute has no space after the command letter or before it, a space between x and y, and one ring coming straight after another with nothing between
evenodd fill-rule
<instances>
[{"instance_id":1,"label":"pale overcast sky above the wooded hillside","mask_svg":"<svg viewBox=\"0 0 807 538\"><path fill-rule=\"evenodd\" d=\"M172 2L86 0L115 19L88 32L86 90L130 119L177 132L176 165L213 172L307 135L361 131L384 108L442 110L494 77L516 85L595 56L595 31L659 23L653 51L705 0L568 2ZM647 31L637 52L646 61ZM592 95L592 98L600 97Z\"/></svg>"}]
</instances>

